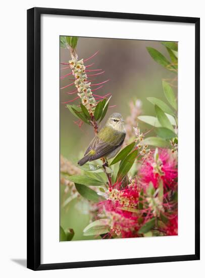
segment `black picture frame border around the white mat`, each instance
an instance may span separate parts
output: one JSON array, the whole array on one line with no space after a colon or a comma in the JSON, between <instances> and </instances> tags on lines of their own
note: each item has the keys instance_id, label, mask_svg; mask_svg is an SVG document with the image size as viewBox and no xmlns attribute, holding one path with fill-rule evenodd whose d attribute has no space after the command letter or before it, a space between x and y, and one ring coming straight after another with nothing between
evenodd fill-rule
<instances>
[{"instance_id":1,"label":"black picture frame border around the white mat","mask_svg":"<svg viewBox=\"0 0 205 278\"><path fill-rule=\"evenodd\" d=\"M40 262L40 16L42 14L116 18L195 24L195 253L191 255L113 259L67 263ZM139 263L199 260L200 258L200 19L164 15L143 15L50 8L27 10L27 267L33 270L110 266ZM188 243L187 243L188 244Z\"/></svg>"}]
</instances>

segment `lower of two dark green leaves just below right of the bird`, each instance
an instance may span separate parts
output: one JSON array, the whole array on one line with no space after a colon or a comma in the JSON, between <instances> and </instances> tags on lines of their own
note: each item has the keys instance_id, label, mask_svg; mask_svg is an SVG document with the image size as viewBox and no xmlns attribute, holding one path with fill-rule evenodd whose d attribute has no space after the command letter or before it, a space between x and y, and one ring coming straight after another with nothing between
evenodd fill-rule
<instances>
[{"instance_id":1,"label":"lower of two dark green leaves just below right of the bird","mask_svg":"<svg viewBox=\"0 0 205 278\"><path fill-rule=\"evenodd\" d=\"M138 150L134 150L122 161L116 180L122 179L129 172L137 157L137 152Z\"/></svg>"}]
</instances>

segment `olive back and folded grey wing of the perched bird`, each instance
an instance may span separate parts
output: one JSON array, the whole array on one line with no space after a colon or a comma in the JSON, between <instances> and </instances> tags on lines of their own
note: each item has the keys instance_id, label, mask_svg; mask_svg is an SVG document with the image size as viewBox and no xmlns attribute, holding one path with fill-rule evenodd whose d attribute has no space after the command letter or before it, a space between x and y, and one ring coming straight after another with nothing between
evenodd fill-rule
<instances>
[{"instance_id":1,"label":"olive back and folded grey wing of the perched bird","mask_svg":"<svg viewBox=\"0 0 205 278\"><path fill-rule=\"evenodd\" d=\"M107 130L100 130L100 132L93 138L89 147L87 148L85 155L91 150L95 152L90 157L89 161L104 157L123 144L125 133L116 132L116 134L112 136L111 140L111 134L106 131Z\"/></svg>"}]
</instances>

